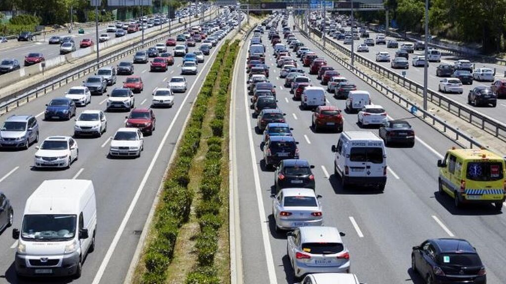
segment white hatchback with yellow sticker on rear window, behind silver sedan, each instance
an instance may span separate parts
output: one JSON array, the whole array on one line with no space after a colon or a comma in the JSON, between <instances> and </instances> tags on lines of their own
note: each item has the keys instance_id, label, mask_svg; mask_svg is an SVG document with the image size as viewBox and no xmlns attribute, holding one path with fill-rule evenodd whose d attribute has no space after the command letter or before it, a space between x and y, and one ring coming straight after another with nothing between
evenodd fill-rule
<instances>
[{"instance_id":1,"label":"white hatchback with yellow sticker on rear window, behind silver sedan","mask_svg":"<svg viewBox=\"0 0 506 284\"><path fill-rule=\"evenodd\" d=\"M335 227L304 226L287 233L287 253L296 279L308 273L349 272L350 253Z\"/></svg>"}]
</instances>

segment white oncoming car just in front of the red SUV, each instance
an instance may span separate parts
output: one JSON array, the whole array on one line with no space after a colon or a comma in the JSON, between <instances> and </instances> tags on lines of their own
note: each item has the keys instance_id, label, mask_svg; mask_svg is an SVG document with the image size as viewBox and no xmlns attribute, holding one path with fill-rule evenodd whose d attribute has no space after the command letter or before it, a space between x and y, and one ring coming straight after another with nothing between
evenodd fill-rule
<instances>
[{"instance_id":1,"label":"white oncoming car just in front of the red SUV","mask_svg":"<svg viewBox=\"0 0 506 284\"><path fill-rule=\"evenodd\" d=\"M140 157L144 150L144 136L134 127L119 128L112 137L109 147L110 157Z\"/></svg>"}]
</instances>

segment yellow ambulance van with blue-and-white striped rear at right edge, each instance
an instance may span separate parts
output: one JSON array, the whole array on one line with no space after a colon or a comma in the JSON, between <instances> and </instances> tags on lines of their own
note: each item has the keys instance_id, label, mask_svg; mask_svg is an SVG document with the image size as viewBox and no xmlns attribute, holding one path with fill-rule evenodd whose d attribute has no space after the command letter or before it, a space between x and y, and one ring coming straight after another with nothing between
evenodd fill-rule
<instances>
[{"instance_id":1,"label":"yellow ambulance van with blue-and-white striped rear at right edge","mask_svg":"<svg viewBox=\"0 0 506 284\"><path fill-rule=\"evenodd\" d=\"M459 208L463 203L493 203L501 211L506 197L505 162L484 149L448 150L438 161L439 193Z\"/></svg>"}]
</instances>

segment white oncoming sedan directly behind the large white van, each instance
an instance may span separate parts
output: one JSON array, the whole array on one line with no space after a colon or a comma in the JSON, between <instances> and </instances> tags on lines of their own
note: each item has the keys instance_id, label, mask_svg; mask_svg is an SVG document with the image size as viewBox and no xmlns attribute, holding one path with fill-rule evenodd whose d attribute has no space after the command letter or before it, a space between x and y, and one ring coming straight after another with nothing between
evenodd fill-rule
<instances>
[{"instance_id":1,"label":"white oncoming sedan directly behind the large white van","mask_svg":"<svg viewBox=\"0 0 506 284\"><path fill-rule=\"evenodd\" d=\"M77 142L68 136L49 136L35 149L36 168L69 168L79 157Z\"/></svg>"}]
</instances>

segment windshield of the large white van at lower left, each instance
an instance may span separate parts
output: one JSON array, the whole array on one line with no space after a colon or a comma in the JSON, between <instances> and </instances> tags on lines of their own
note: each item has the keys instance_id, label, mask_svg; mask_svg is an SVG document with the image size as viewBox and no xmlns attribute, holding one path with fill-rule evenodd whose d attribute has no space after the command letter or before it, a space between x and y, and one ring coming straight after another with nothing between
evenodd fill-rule
<instances>
[{"instance_id":1,"label":"windshield of the large white van at lower left","mask_svg":"<svg viewBox=\"0 0 506 284\"><path fill-rule=\"evenodd\" d=\"M76 216L67 214L24 215L21 238L66 241L74 238Z\"/></svg>"}]
</instances>

